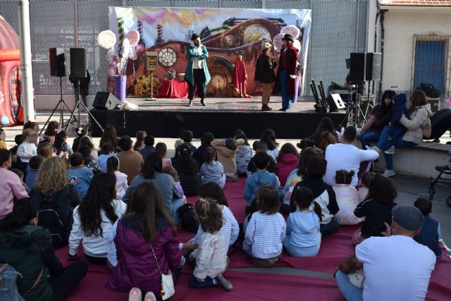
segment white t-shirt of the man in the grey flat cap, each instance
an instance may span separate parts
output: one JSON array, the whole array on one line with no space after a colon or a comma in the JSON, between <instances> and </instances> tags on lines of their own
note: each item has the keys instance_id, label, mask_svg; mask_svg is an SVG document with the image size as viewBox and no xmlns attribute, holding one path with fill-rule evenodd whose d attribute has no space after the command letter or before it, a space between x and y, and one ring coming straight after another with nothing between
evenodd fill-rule
<instances>
[{"instance_id":1,"label":"white t-shirt of the man in the grey flat cap","mask_svg":"<svg viewBox=\"0 0 451 301\"><path fill-rule=\"evenodd\" d=\"M404 235L371 237L355 247L355 254L364 264L363 300L416 301L426 297L435 265L435 254L428 247Z\"/></svg>"}]
</instances>

